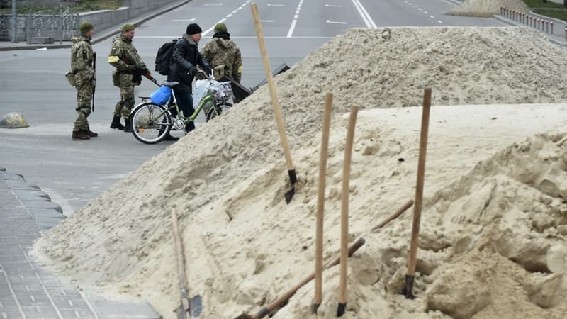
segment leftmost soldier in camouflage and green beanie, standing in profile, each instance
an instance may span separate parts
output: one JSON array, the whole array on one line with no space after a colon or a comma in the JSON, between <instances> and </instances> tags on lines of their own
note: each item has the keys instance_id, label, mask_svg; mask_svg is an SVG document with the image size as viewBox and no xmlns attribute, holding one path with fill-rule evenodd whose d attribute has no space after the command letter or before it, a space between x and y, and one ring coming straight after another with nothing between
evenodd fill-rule
<instances>
[{"instance_id":1,"label":"leftmost soldier in camouflage and green beanie, standing in profile","mask_svg":"<svg viewBox=\"0 0 567 319\"><path fill-rule=\"evenodd\" d=\"M72 38L71 47L71 72L74 75L75 87L77 88L77 120L75 120L72 140L89 140L96 138L89 128L86 118L91 114L91 101L96 85L96 74L93 68L94 52L91 39L94 35L94 26L89 21L83 21L79 25L80 34Z\"/></svg>"}]
</instances>

